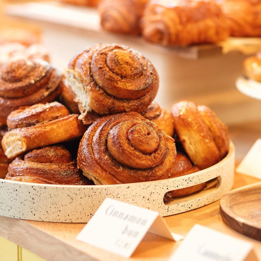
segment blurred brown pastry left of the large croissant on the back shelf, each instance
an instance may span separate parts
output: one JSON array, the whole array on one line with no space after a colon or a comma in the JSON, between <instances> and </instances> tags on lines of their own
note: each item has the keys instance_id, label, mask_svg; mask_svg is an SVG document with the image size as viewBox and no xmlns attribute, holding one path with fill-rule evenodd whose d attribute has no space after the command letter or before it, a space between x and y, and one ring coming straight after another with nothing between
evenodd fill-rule
<instances>
[{"instance_id":1,"label":"blurred brown pastry left of the large croissant on the back shelf","mask_svg":"<svg viewBox=\"0 0 261 261\"><path fill-rule=\"evenodd\" d=\"M103 29L113 33L140 33L140 18L148 1L102 0L98 9Z\"/></svg>"}]
</instances>

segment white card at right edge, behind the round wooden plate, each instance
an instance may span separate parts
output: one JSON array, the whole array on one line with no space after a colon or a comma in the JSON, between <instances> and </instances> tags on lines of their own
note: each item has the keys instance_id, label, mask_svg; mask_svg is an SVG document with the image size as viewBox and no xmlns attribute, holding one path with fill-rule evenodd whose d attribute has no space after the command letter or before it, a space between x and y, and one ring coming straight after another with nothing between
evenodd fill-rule
<instances>
[{"instance_id":1,"label":"white card at right edge, behind the round wooden plate","mask_svg":"<svg viewBox=\"0 0 261 261\"><path fill-rule=\"evenodd\" d=\"M254 143L238 165L236 172L261 179L261 139Z\"/></svg>"}]
</instances>

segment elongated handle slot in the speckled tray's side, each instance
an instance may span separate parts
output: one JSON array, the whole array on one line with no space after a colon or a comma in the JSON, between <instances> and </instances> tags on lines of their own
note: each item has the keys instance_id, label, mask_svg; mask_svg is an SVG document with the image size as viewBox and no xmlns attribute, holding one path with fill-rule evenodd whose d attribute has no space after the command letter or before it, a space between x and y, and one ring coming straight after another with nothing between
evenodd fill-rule
<instances>
[{"instance_id":1,"label":"elongated handle slot in the speckled tray's side","mask_svg":"<svg viewBox=\"0 0 261 261\"><path fill-rule=\"evenodd\" d=\"M209 181L199 183L197 185L168 191L164 194L163 202L165 205L176 205L185 203L196 197L203 197L212 194L220 189L221 176L215 177Z\"/></svg>"}]
</instances>

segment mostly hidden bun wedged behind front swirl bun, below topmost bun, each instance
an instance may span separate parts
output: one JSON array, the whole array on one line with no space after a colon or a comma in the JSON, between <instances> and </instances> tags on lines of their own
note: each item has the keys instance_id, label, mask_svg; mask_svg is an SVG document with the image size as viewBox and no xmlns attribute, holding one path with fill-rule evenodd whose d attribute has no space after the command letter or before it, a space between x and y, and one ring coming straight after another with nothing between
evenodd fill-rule
<instances>
[{"instance_id":1,"label":"mostly hidden bun wedged behind front swirl bun, below topmost bun","mask_svg":"<svg viewBox=\"0 0 261 261\"><path fill-rule=\"evenodd\" d=\"M146 119L154 122L170 137L174 135L173 115L167 110L161 109L156 102L152 102L145 111L140 113Z\"/></svg>"}]
</instances>

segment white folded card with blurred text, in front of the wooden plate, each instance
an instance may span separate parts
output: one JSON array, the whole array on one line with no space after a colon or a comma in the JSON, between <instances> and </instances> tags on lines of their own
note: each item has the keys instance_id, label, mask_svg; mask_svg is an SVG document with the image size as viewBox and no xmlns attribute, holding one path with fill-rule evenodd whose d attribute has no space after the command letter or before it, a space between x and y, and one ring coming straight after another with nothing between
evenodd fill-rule
<instances>
[{"instance_id":1,"label":"white folded card with blurred text, in front of the wooden plate","mask_svg":"<svg viewBox=\"0 0 261 261\"><path fill-rule=\"evenodd\" d=\"M170 261L258 261L253 245L246 241L195 225Z\"/></svg>"}]
</instances>

